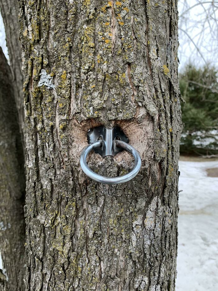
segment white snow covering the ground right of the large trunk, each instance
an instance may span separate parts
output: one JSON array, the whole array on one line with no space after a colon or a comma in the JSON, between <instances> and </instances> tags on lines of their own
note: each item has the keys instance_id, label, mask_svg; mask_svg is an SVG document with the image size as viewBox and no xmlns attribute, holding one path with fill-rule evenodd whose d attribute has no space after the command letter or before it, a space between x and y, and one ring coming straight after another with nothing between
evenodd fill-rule
<instances>
[{"instance_id":1,"label":"white snow covering the ground right of the large trunk","mask_svg":"<svg viewBox=\"0 0 218 291\"><path fill-rule=\"evenodd\" d=\"M218 290L218 177L215 162L179 161L176 291Z\"/></svg>"}]
</instances>

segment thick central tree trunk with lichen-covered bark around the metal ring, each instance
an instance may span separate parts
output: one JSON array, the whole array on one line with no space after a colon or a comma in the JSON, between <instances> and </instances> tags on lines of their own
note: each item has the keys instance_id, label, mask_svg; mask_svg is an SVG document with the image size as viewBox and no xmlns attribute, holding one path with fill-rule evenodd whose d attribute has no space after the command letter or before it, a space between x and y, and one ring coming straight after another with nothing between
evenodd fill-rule
<instances>
[{"instance_id":1,"label":"thick central tree trunk with lichen-covered bark around the metal ring","mask_svg":"<svg viewBox=\"0 0 218 291\"><path fill-rule=\"evenodd\" d=\"M181 132L177 2L20 0L26 290L174 290ZM120 126L142 158L108 186L79 166L88 129ZM89 166L129 171L127 152Z\"/></svg>"}]
</instances>

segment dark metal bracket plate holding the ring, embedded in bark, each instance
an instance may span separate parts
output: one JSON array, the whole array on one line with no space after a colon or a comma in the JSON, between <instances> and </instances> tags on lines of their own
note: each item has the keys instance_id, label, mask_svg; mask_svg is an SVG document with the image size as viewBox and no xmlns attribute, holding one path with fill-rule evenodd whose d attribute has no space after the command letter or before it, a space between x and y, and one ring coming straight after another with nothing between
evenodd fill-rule
<instances>
[{"instance_id":1,"label":"dark metal bracket plate holding the ring, embedded in bark","mask_svg":"<svg viewBox=\"0 0 218 291\"><path fill-rule=\"evenodd\" d=\"M94 148L95 153L100 154L102 157L114 157L117 153L123 151L123 148L117 147L115 143L116 139L129 143L129 139L118 126L115 126L112 129L107 129L103 125L94 127L89 130L87 139L89 144L97 142L100 139L103 140L102 146Z\"/></svg>"}]
</instances>

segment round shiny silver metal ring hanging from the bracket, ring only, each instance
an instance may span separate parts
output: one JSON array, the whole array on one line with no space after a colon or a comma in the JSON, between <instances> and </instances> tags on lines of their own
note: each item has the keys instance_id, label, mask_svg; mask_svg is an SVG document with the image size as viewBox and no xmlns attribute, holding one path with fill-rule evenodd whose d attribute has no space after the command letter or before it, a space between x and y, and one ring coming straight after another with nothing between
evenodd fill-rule
<instances>
[{"instance_id":1,"label":"round shiny silver metal ring hanging from the bracket, ring only","mask_svg":"<svg viewBox=\"0 0 218 291\"><path fill-rule=\"evenodd\" d=\"M86 158L88 156L88 154L92 151L93 148L97 148L100 147L102 145L102 140L98 140L95 143L91 143L90 145L88 145L86 148L83 149L79 162L80 162L80 166L83 170L83 172L92 180L97 181L99 183L103 183L103 184L121 184L121 183L125 183L129 180L131 180L132 178L134 178L141 167L141 158L139 153L136 151L135 148L133 148L132 146L130 146L128 143L122 142L121 140L115 140L116 146L124 148L125 150L127 150L128 152L130 152L134 159L135 159L135 165L134 168L127 174L123 175L123 176L118 176L118 177L105 177L105 176L101 176L99 174L96 174L95 172L93 172L89 167L88 164L86 162Z\"/></svg>"}]
</instances>

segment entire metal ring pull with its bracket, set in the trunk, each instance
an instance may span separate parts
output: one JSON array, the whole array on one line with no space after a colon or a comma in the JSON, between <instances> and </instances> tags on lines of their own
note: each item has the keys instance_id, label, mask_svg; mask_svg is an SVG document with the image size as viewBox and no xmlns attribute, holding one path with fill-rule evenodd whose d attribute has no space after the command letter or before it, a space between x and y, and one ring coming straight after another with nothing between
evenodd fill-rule
<instances>
[{"instance_id":1,"label":"entire metal ring pull with its bracket, set in the trunk","mask_svg":"<svg viewBox=\"0 0 218 291\"><path fill-rule=\"evenodd\" d=\"M103 184L120 184L127 182L134 178L140 170L141 158L139 153L133 148L129 143L129 139L123 133L119 127L114 127L112 129L106 129L104 126L98 126L94 129L90 129L87 134L89 145L83 149L80 156L80 165L83 172L90 177L92 180L103 183ZM106 156L116 156L117 153L121 152L123 149L130 152L134 159L135 164L133 169L126 175L119 177L105 177L93 172L86 162L88 153L92 149L99 153L102 157Z\"/></svg>"}]
</instances>

